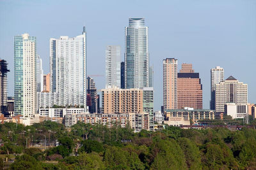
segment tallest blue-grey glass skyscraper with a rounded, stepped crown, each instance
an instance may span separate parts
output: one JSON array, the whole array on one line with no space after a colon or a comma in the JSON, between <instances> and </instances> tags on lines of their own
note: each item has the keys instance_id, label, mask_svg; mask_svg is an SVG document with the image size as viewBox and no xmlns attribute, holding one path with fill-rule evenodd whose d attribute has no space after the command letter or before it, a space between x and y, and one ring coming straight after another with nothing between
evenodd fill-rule
<instances>
[{"instance_id":1,"label":"tallest blue-grey glass skyscraper with a rounded, stepped crown","mask_svg":"<svg viewBox=\"0 0 256 170\"><path fill-rule=\"evenodd\" d=\"M129 18L125 27L125 89L148 87L148 27L144 18Z\"/></svg>"}]
</instances>

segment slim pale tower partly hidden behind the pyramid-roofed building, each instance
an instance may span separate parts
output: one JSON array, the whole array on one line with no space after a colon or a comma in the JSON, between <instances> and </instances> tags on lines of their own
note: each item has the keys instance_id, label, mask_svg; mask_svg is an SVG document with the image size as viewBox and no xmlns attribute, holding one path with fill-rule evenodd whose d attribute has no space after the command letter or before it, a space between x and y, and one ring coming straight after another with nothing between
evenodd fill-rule
<instances>
[{"instance_id":1,"label":"slim pale tower partly hidden behind the pyramid-roofed building","mask_svg":"<svg viewBox=\"0 0 256 170\"><path fill-rule=\"evenodd\" d=\"M210 109L215 110L215 90L216 84L220 83L224 80L224 69L220 66L211 69L211 101L210 101Z\"/></svg>"}]
</instances>

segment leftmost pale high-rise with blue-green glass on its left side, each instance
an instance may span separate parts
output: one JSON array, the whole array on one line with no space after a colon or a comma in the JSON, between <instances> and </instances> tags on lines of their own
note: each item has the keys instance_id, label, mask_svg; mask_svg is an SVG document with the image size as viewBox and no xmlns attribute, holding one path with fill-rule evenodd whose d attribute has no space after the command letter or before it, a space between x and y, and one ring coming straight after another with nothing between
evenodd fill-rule
<instances>
[{"instance_id":1,"label":"leftmost pale high-rise with blue-green glass on its left side","mask_svg":"<svg viewBox=\"0 0 256 170\"><path fill-rule=\"evenodd\" d=\"M36 37L29 34L14 37L15 115L25 118L36 113Z\"/></svg>"}]
</instances>

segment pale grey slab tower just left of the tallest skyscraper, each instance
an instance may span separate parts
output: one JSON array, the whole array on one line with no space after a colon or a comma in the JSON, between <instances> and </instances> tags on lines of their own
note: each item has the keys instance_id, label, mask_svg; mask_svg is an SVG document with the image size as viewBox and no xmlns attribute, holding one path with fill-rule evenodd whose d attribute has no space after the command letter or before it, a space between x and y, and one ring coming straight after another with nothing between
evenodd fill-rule
<instances>
[{"instance_id":1,"label":"pale grey slab tower just left of the tallest skyscraper","mask_svg":"<svg viewBox=\"0 0 256 170\"><path fill-rule=\"evenodd\" d=\"M106 47L106 88L120 88L120 46Z\"/></svg>"}]
</instances>

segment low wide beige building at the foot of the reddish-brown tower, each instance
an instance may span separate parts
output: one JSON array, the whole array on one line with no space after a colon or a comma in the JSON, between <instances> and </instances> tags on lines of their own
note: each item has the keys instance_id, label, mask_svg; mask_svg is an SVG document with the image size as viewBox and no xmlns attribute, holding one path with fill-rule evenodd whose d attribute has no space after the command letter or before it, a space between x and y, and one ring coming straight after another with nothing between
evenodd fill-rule
<instances>
[{"instance_id":1,"label":"low wide beige building at the foot of the reddish-brown tower","mask_svg":"<svg viewBox=\"0 0 256 170\"><path fill-rule=\"evenodd\" d=\"M190 120L195 123L198 120L215 119L213 110L194 110L193 108L184 108L183 110L165 110L164 124L168 125L190 125Z\"/></svg>"}]
</instances>

